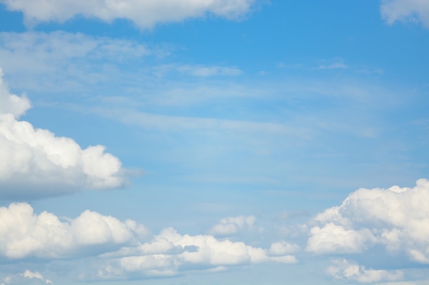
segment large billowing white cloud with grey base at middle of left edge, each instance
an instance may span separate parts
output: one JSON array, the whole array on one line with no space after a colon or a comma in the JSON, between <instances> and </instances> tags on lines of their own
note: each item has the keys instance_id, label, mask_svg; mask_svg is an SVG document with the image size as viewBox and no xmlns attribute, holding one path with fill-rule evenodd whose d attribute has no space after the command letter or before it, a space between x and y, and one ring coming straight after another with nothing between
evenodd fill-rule
<instances>
[{"instance_id":1,"label":"large billowing white cloud with grey base at middle of left edge","mask_svg":"<svg viewBox=\"0 0 429 285\"><path fill-rule=\"evenodd\" d=\"M84 150L67 137L37 129L19 117L25 96L11 94L0 70L0 197L60 195L80 187L121 187L121 161L103 146Z\"/></svg>"}]
</instances>

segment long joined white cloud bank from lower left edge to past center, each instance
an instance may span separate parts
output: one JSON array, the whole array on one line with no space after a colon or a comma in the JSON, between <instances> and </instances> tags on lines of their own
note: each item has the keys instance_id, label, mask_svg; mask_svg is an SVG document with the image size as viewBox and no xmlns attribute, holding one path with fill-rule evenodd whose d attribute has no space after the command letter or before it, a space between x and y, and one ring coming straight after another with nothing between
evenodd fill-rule
<instances>
[{"instance_id":1,"label":"long joined white cloud bank from lower left edge to past center","mask_svg":"<svg viewBox=\"0 0 429 285\"><path fill-rule=\"evenodd\" d=\"M262 249L208 234L179 234L166 228L152 235L133 220L84 211L75 219L33 212L26 203L0 208L0 256L25 258L96 257L79 280L126 280L171 276L185 271L217 272L245 264L293 264L290 245L273 243ZM299 248L298 248L299 249Z\"/></svg>"}]
</instances>

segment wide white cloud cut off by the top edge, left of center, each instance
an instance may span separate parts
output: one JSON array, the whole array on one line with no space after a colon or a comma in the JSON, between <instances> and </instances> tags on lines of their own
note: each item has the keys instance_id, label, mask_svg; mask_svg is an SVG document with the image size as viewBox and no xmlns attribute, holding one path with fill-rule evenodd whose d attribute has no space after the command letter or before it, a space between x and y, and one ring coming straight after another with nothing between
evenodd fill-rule
<instances>
[{"instance_id":1,"label":"wide white cloud cut off by the top edge, left of center","mask_svg":"<svg viewBox=\"0 0 429 285\"><path fill-rule=\"evenodd\" d=\"M118 18L132 21L141 29L157 23L184 21L205 14L240 18L254 0L1 0L9 10L21 11L25 23L64 22L77 15L99 18L108 23Z\"/></svg>"}]
</instances>

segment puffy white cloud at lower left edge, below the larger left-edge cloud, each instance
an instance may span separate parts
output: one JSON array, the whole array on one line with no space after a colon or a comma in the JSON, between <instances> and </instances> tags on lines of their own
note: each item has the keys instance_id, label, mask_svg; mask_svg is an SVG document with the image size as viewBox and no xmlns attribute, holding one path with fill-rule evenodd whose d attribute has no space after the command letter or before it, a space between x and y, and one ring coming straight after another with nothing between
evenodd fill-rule
<instances>
[{"instance_id":1,"label":"puffy white cloud at lower left edge, below the larger left-edge cloud","mask_svg":"<svg viewBox=\"0 0 429 285\"><path fill-rule=\"evenodd\" d=\"M135 221L124 222L93 211L61 221L56 215L36 215L32 206L12 203L0 208L0 255L7 258L64 258L91 246L123 245L149 236Z\"/></svg>"}]
</instances>

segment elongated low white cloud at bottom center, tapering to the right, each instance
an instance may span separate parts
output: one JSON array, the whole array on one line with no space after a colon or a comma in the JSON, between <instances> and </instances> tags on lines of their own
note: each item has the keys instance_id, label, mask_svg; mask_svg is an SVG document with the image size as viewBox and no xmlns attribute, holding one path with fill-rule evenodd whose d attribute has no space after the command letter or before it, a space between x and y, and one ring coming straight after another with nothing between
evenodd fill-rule
<instances>
[{"instance_id":1,"label":"elongated low white cloud at bottom center, tapering to the right","mask_svg":"<svg viewBox=\"0 0 429 285\"><path fill-rule=\"evenodd\" d=\"M279 253L279 252L278 252ZM173 228L162 230L149 243L124 247L105 254L112 258L88 279L121 279L132 273L143 276L176 275L180 271L223 271L228 266L262 262L296 263L293 255L271 255L266 249L243 242L219 240L210 235L179 234Z\"/></svg>"}]
</instances>

